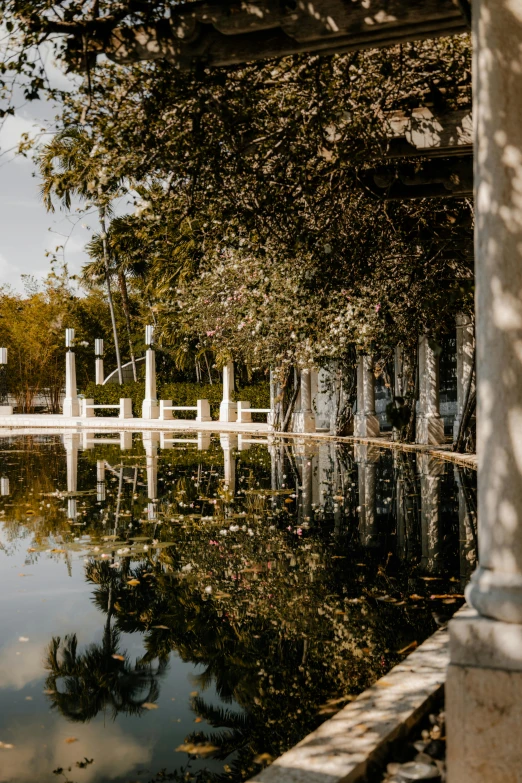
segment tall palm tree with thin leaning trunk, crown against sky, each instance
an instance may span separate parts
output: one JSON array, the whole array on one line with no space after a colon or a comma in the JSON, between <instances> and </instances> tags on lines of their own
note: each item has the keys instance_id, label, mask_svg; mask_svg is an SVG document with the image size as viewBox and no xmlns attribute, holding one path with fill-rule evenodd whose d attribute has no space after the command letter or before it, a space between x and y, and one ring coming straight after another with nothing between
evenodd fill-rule
<instances>
[{"instance_id":1,"label":"tall palm tree with thin leaning trunk, crown against sky","mask_svg":"<svg viewBox=\"0 0 522 783\"><path fill-rule=\"evenodd\" d=\"M107 298L111 313L114 349L118 378L123 383L121 355L116 327L116 315L111 290L111 273L107 247L107 217L110 204L121 188L122 177L105 163L103 148L83 128L66 128L58 133L41 151L39 157L42 176L41 194L49 212L54 212L53 196L70 209L73 197L92 201L98 211L101 228L102 257L107 284Z\"/></svg>"}]
</instances>

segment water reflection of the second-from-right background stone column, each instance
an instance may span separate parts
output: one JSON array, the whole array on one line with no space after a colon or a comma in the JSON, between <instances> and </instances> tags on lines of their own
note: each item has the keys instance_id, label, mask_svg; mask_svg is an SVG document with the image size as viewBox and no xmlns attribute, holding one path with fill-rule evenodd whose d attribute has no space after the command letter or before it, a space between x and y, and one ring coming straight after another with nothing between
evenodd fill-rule
<instances>
[{"instance_id":1,"label":"water reflection of the second-from-right background stone column","mask_svg":"<svg viewBox=\"0 0 522 783\"><path fill-rule=\"evenodd\" d=\"M429 454L417 454L421 498L421 569L436 576L442 570L440 484L444 463Z\"/></svg>"}]
</instances>

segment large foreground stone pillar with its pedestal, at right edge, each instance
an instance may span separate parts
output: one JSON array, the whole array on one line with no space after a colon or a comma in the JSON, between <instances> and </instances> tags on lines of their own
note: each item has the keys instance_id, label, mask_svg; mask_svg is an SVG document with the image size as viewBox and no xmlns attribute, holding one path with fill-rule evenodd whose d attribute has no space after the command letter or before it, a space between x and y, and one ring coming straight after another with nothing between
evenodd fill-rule
<instances>
[{"instance_id":1,"label":"large foreground stone pillar with its pedestal, at right edge","mask_svg":"<svg viewBox=\"0 0 522 783\"><path fill-rule=\"evenodd\" d=\"M521 779L522 4L474 0L479 568L450 623L448 781Z\"/></svg>"}]
</instances>

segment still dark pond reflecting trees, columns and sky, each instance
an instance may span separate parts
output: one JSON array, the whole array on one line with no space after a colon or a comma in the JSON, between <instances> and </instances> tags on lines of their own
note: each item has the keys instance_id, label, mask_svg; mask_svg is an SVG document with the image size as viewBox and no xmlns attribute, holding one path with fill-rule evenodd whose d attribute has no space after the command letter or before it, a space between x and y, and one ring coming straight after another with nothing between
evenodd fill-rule
<instances>
[{"instance_id":1,"label":"still dark pond reflecting trees, columns and sky","mask_svg":"<svg viewBox=\"0 0 522 783\"><path fill-rule=\"evenodd\" d=\"M0 783L247 780L433 633L475 476L205 433L0 438Z\"/></svg>"}]
</instances>

